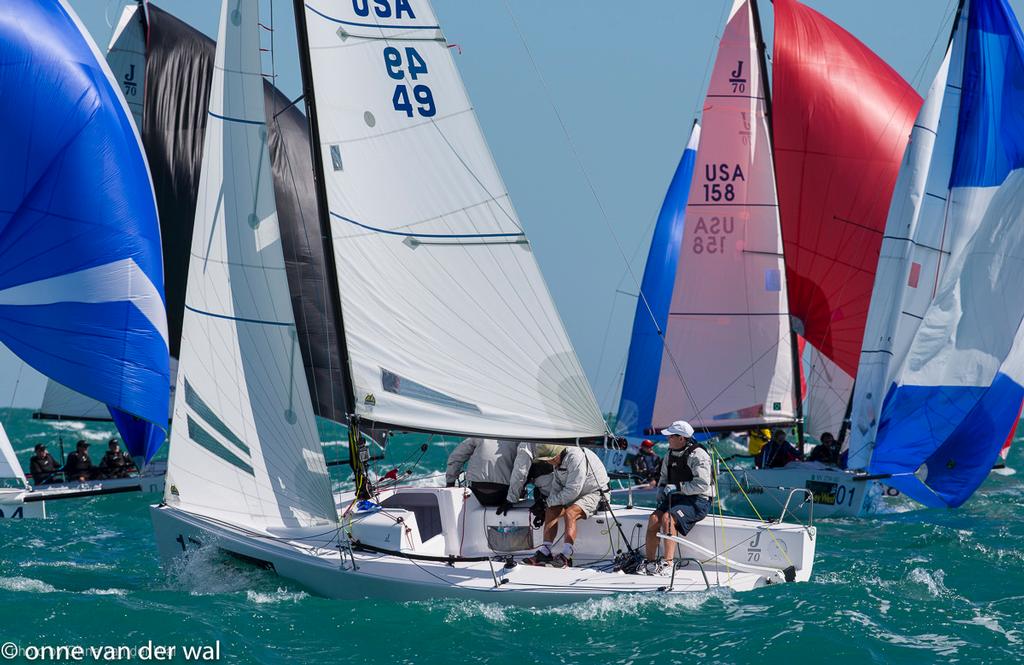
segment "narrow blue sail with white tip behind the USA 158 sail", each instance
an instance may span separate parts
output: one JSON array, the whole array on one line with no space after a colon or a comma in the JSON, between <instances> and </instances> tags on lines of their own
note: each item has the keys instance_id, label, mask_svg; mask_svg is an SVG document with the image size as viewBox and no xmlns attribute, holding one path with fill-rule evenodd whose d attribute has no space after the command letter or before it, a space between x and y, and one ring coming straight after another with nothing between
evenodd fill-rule
<instances>
[{"instance_id":1,"label":"narrow blue sail with white tip behind the USA 158 sail","mask_svg":"<svg viewBox=\"0 0 1024 665\"><path fill-rule=\"evenodd\" d=\"M647 253L640 296L633 316L633 336L626 361L623 396L618 401L616 433L641 437L650 426L654 397L665 348L663 335L669 323L672 290L676 284L683 222L690 195L690 181L697 160L700 126L694 123L690 140L665 195L654 235Z\"/></svg>"}]
</instances>

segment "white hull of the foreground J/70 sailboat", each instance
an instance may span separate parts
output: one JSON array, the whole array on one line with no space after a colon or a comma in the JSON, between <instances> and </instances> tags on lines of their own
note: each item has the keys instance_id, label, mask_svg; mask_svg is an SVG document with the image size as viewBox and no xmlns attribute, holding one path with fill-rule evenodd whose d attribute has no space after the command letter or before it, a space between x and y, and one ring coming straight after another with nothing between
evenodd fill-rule
<instances>
[{"instance_id":1,"label":"white hull of the foreground J/70 sailboat","mask_svg":"<svg viewBox=\"0 0 1024 665\"><path fill-rule=\"evenodd\" d=\"M397 497L400 504L414 495L419 500L436 499L441 533L422 541L417 514L388 505L384 512L351 516L351 550L348 544L339 545L336 530L324 527L270 533L170 505L153 506L151 514L165 564L196 548L213 546L334 598L416 600L442 595L545 606L618 593L691 593L715 587L742 591L783 581L782 571L791 566L793 580L806 581L814 559L813 528L709 516L687 539L695 549L682 551L686 547L680 546L678 554L707 559L709 556L700 555L696 548L723 552L722 560L705 563L703 574L694 564L678 569L674 579L668 574L648 577L615 573L611 572L610 557L626 545L614 527L609 530L607 515L599 513L580 524L574 568L506 568L509 555L519 557L539 544L540 531L530 530L529 548L516 551L492 549L488 532L493 536L502 529L523 529L530 518L525 507L499 517L493 508L482 508L475 498L465 496L458 488L409 488L386 493L382 500L390 504L389 499ZM352 497L336 498L345 508ZM647 508L614 508L624 533L634 544L642 545L649 514ZM395 522L396 516L402 518L400 524ZM460 548L462 557L488 556L497 560L467 562L460 558ZM445 560L447 556L456 557L451 565ZM725 562L725 557L729 560Z\"/></svg>"}]
</instances>

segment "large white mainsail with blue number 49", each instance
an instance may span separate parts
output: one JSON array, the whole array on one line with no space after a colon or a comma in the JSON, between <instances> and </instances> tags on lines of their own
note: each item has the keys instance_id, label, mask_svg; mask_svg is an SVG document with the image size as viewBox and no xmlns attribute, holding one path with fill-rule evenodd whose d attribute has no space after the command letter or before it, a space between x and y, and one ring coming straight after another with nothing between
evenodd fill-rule
<instances>
[{"instance_id":1,"label":"large white mainsail with blue number 49","mask_svg":"<svg viewBox=\"0 0 1024 665\"><path fill-rule=\"evenodd\" d=\"M429 2L305 8L355 413L499 439L602 434Z\"/></svg>"}]
</instances>

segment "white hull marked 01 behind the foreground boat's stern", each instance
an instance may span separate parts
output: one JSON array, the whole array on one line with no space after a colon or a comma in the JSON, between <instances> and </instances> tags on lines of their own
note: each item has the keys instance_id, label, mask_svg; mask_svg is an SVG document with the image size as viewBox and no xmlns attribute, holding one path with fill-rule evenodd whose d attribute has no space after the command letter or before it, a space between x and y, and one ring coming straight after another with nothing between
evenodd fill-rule
<instances>
[{"instance_id":1,"label":"white hull marked 01 behind the foreground boat's stern","mask_svg":"<svg viewBox=\"0 0 1024 665\"><path fill-rule=\"evenodd\" d=\"M751 514L756 509L765 519L779 517L787 500L784 518L790 519L808 521L812 511L815 519L884 511L892 498L889 490L877 481L854 480L855 475L846 469L795 462L783 468L723 469L718 488L729 511ZM807 492L814 497L813 505Z\"/></svg>"}]
</instances>

